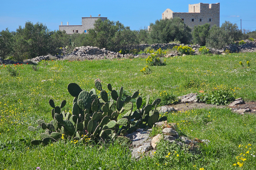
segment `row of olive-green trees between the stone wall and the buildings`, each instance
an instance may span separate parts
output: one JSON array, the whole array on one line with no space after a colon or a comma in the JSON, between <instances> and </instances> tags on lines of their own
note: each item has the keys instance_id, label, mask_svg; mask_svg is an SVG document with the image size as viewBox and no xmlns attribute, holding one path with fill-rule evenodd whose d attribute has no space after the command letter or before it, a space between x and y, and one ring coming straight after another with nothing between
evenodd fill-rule
<instances>
[{"instance_id":1,"label":"row of olive-green trees between the stone wall and the buildings","mask_svg":"<svg viewBox=\"0 0 256 170\"><path fill-rule=\"evenodd\" d=\"M59 52L60 47L66 47L69 39L75 46L97 46L112 51L126 49L136 44L153 43L193 43L207 47L222 48L234 41L256 38L256 31L238 29L237 24L225 21L221 27L204 24L188 27L180 18L156 20L148 30L130 30L119 21L97 20L94 29L88 34L67 35L65 31L50 31L42 23L26 22L25 27L19 26L15 32L8 28L0 32L0 57L17 61L36 56Z\"/></svg>"}]
</instances>

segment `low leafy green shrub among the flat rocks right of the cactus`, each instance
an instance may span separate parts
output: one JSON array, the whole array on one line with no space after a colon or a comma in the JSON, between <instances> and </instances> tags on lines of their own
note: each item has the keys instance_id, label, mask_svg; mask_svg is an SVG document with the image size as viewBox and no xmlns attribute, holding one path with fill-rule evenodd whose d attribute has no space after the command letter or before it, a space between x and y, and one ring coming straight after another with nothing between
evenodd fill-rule
<instances>
[{"instance_id":1,"label":"low leafy green shrub among the flat rocks right of the cactus","mask_svg":"<svg viewBox=\"0 0 256 170\"><path fill-rule=\"evenodd\" d=\"M213 105L229 105L235 100L235 97L228 90L214 90L207 94L200 94L197 96L199 102L213 104Z\"/></svg>"}]
</instances>

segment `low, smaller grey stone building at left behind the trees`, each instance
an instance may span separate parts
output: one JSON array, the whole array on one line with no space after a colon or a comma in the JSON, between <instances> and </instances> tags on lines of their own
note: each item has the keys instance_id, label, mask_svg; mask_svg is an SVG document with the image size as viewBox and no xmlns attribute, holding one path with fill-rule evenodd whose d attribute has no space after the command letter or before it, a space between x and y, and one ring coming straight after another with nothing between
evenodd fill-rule
<instances>
[{"instance_id":1,"label":"low, smaller grey stone building at left behind the trees","mask_svg":"<svg viewBox=\"0 0 256 170\"><path fill-rule=\"evenodd\" d=\"M108 19L107 17L82 17L82 25L61 25L59 26L59 30L63 31L65 30L67 34L74 34L74 33L88 33L89 29L94 28L94 23L96 20L101 19L102 21L105 21Z\"/></svg>"}]
</instances>

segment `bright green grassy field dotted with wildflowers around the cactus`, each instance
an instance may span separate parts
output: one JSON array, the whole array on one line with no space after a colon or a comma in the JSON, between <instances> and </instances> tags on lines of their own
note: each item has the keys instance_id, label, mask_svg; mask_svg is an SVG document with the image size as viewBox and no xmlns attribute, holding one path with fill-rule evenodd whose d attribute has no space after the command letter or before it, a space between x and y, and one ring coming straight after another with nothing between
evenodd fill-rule
<instances>
[{"instance_id":1,"label":"bright green grassy field dotted with wildflowers around the cactus","mask_svg":"<svg viewBox=\"0 0 256 170\"><path fill-rule=\"evenodd\" d=\"M39 138L40 133L27 129L36 126L38 119L52 120L49 99L58 105L67 100L63 109L72 110L69 83L89 91L97 78L105 90L111 83L116 90L123 86L128 95L139 89L142 98L149 94L152 100L165 94L181 96L226 89L236 98L256 101L255 56L256 53L176 56L166 58L165 66L150 66L152 73L148 75L140 72L146 66L145 58L41 61L38 71L29 64L13 65L19 71L16 77L0 65L0 169L256 169L255 115L237 115L229 109L166 115L183 135L211 141L200 144L200 152L195 155L167 142L159 144L153 158L139 160L131 158L128 146L117 143L90 147L60 140L52 145L33 146L30 140Z\"/></svg>"}]
</instances>

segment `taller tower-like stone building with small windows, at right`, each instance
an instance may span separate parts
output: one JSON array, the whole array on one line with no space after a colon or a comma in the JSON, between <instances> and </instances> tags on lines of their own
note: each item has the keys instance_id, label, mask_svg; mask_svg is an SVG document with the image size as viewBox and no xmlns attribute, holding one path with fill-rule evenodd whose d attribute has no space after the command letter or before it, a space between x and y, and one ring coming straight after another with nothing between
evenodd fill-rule
<instances>
[{"instance_id":1,"label":"taller tower-like stone building with small windows, at right","mask_svg":"<svg viewBox=\"0 0 256 170\"><path fill-rule=\"evenodd\" d=\"M209 23L212 26L220 26L220 3L217 4L189 4L187 12L173 12L166 9L162 13L162 19L179 17L189 27Z\"/></svg>"}]
</instances>

